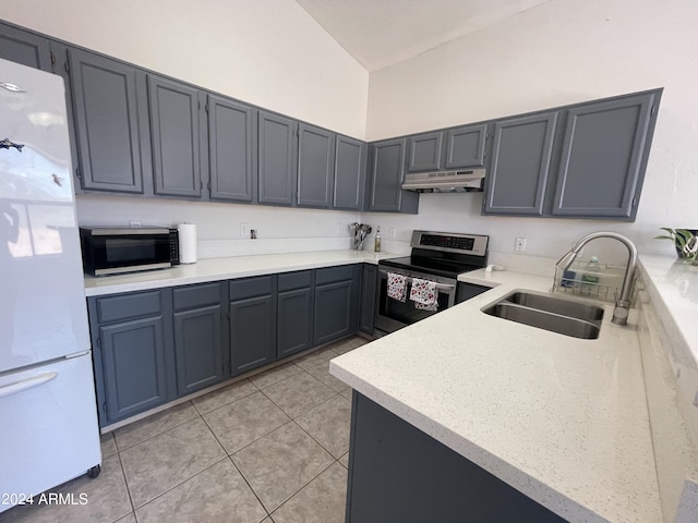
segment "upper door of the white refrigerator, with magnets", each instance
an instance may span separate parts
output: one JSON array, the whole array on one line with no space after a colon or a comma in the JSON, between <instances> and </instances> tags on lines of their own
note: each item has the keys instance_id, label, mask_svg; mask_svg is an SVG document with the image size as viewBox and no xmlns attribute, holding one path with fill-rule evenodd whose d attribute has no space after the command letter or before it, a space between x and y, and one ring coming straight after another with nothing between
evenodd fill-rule
<instances>
[{"instance_id":1,"label":"upper door of the white refrigerator, with magnets","mask_svg":"<svg viewBox=\"0 0 698 523\"><path fill-rule=\"evenodd\" d=\"M89 350L63 80L0 60L0 374Z\"/></svg>"}]
</instances>

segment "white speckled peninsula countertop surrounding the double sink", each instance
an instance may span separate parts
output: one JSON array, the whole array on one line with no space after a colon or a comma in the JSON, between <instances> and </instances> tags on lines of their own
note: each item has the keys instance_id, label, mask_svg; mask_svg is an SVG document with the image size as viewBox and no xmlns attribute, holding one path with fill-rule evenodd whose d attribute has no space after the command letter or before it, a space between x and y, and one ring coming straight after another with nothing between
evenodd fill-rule
<instances>
[{"instance_id":1,"label":"white speckled peninsula countertop surrounding the double sink","mask_svg":"<svg viewBox=\"0 0 698 523\"><path fill-rule=\"evenodd\" d=\"M358 392L573 522L662 521L637 311L581 340L489 316L552 277L477 270L493 287L330 362ZM598 302L594 302L598 303Z\"/></svg>"}]
</instances>

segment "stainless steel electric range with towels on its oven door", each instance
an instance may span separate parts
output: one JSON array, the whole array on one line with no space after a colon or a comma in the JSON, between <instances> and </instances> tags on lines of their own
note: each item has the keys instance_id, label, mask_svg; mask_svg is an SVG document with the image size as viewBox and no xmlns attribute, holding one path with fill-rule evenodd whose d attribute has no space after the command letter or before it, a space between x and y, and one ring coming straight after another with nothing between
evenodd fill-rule
<instances>
[{"instance_id":1,"label":"stainless steel electric range with towels on its oven door","mask_svg":"<svg viewBox=\"0 0 698 523\"><path fill-rule=\"evenodd\" d=\"M486 267L489 240L490 236L480 234L412 232L410 256L378 263L375 328L393 332L455 305L458 300L458 275ZM388 272L406 277L405 302L388 296ZM413 278L436 283L436 311L417 308L409 299ZM484 290L486 288L480 288L472 295Z\"/></svg>"}]
</instances>

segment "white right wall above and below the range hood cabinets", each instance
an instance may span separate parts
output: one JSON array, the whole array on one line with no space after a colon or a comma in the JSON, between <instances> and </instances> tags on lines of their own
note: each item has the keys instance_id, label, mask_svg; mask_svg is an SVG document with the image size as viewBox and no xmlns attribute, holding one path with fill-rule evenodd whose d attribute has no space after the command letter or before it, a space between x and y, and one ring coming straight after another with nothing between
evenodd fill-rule
<instances>
[{"instance_id":1,"label":"white right wall above and below the range hood cabinets","mask_svg":"<svg viewBox=\"0 0 698 523\"><path fill-rule=\"evenodd\" d=\"M370 141L664 87L634 223L482 217L474 194L422 195L418 217L364 221L402 239L414 228L490 234L503 253L526 236L526 254L547 257L614 230L640 252L672 254L670 242L652 240L658 228L698 228L696 27L695 0L553 0L371 74Z\"/></svg>"}]
</instances>

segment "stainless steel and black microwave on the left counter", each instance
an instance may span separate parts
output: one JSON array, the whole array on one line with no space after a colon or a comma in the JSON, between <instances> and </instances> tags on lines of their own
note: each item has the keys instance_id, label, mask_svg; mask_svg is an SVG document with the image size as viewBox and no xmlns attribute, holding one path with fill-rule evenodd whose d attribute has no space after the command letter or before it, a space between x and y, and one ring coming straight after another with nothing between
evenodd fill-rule
<instances>
[{"instance_id":1,"label":"stainless steel and black microwave on the left counter","mask_svg":"<svg viewBox=\"0 0 698 523\"><path fill-rule=\"evenodd\" d=\"M83 268L93 276L164 269L179 265L177 229L81 227Z\"/></svg>"}]
</instances>

